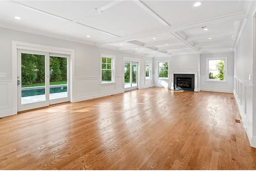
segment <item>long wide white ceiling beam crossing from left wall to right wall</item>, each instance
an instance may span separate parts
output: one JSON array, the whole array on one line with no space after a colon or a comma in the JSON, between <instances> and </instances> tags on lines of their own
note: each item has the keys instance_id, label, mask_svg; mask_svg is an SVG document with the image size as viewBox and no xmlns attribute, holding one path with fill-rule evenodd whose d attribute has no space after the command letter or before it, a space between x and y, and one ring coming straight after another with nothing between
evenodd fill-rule
<instances>
[{"instance_id":1,"label":"long wide white ceiling beam crossing from left wall to right wall","mask_svg":"<svg viewBox=\"0 0 256 172\"><path fill-rule=\"evenodd\" d=\"M141 38L147 38L151 36L157 36L157 35L163 35L167 33L173 33L173 32L181 32L187 29L192 29L196 27L201 27L204 25L216 25L216 24L221 24L221 23L226 23L230 21L235 21L243 18L248 18L248 15L243 12L243 11L235 11L235 12L230 12L225 15L217 15L217 16L212 16L208 18L203 18L199 20L194 20L186 23L181 23L177 25L171 25L167 26L164 28L160 29L155 29L147 32L140 32L140 33L135 33L131 35L126 35L122 36L121 38L118 39L109 39L105 41L100 41L97 43L98 46L101 45L108 45L108 44L114 44L114 43L119 43L119 42L124 42L124 41L131 41L131 40L136 40L136 39L141 39Z\"/></svg>"}]
</instances>

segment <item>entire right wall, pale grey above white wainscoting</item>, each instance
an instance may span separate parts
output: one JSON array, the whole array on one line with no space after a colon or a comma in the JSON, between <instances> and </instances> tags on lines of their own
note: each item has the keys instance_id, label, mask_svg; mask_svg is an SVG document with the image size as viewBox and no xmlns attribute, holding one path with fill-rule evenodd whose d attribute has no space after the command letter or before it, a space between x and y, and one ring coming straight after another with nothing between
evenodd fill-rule
<instances>
[{"instance_id":1,"label":"entire right wall, pale grey above white wainscoting","mask_svg":"<svg viewBox=\"0 0 256 172\"><path fill-rule=\"evenodd\" d=\"M242 122L252 147L256 147L256 88L255 61L253 64L253 4L244 31L235 49L235 89L234 97L238 105ZM249 81L249 75L252 75Z\"/></svg>"}]
</instances>

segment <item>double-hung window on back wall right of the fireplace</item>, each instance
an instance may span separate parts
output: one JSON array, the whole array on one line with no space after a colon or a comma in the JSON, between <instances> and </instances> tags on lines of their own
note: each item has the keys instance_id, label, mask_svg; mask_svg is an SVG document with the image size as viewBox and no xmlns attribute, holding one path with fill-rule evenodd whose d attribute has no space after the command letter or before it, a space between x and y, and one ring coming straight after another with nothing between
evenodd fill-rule
<instances>
[{"instance_id":1,"label":"double-hung window on back wall right of the fireplace","mask_svg":"<svg viewBox=\"0 0 256 172\"><path fill-rule=\"evenodd\" d=\"M225 68L227 58L208 58L207 64L207 76L209 81L225 81Z\"/></svg>"}]
</instances>

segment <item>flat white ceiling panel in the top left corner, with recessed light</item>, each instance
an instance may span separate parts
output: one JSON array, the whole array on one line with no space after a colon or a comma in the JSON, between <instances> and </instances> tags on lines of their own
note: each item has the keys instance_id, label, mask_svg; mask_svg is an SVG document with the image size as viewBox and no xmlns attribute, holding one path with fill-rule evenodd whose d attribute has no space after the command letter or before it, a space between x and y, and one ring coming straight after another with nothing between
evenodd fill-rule
<instances>
[{"instance_id":1,"label":"flat white ceiling panel in the top left corner, with recessed light","mask_svg":"<svg viewBox=\"0 0 256 172\"><path fill-rule=\"evenodd\" d=\"M21 20L15 19L15 16ZM52 31L67 24L65 20L28 10L10 1L0 1L0 21L42 31Z\"/></svg>"}]
</instances>

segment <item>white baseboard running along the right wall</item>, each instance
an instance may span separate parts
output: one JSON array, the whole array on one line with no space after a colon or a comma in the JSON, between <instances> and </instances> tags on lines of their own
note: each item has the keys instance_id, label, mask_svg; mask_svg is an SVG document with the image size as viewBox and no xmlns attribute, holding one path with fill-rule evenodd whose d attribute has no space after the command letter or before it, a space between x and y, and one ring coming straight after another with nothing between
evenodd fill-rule
<instances>
[{"instance_id":1,"label":"white baseboard running along the right wall","mask_svg":"<svg viewBox=\"0 0 256 172\"><path fill-rule=\"evenodd\" d=\"M242 120L242 123L244 125L244 128L245 128L245 131L246 131L246 134L247 134L247 137L249 139L249 142L251 144L251 147L256 147L256 137L255 136L252 136L251 132L249 131L249 128L252 128L252 125L251 122L248 120L246 114L244 113L241 105L240 105L240 101L238 101L238 97L236 96L236 93L235 91L233 91L233 94L234 94L234 97L235 97L235 100L236 100L236 104L237 104L237 107L238 107L238 111L240 113L240 116L241 116L241 120Z\"/></svg>"}]
</instances>

